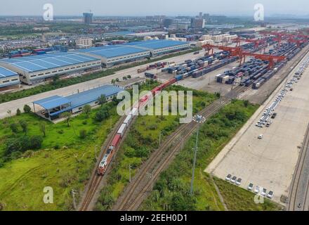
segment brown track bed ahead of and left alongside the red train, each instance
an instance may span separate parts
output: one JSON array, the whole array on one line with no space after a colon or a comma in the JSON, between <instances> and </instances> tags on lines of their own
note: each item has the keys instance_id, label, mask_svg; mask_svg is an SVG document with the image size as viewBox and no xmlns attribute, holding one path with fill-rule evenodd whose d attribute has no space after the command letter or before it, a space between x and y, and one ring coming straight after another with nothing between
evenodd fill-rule
<instances>
[{"instance_id":1,"label":"brown track bed ahead of and left alongside the red train","mask_svg":"<svg viewBox=\"0 0 309 225\"><path fill-rule=\"evenodd\" d=\"M114 138L115 134L117 134L117 131L118 131L119 127L121 126L121 124L124 122L125 118L126 118L125 116L121 117L121 119L117 122L114 129L112 129L112 132L109 134L109 136L107 137L107 140L105 141L105 143L103 144L103 146L101 148L101 153L100 153L100 156L99 156L98 161L96 163L96 167L95 167L95 169L93 169L93 172L91 174L91 180L90 180L90 182L88 183L88 186L85 189L84 198L81 199L79 211L87 211L88 210L88 207L89 207L91 201L93 200L93 196L95 195L96 191L98 190L98 186L100 185L100 182L102 181L102 179L104 177L104 176L98 176L97 175L98 165L100 164L100 161L103 159L105 153L107 152L107 146L110 146L110 144L112 143L112 139Z\"/></svg>"}]
</instances>

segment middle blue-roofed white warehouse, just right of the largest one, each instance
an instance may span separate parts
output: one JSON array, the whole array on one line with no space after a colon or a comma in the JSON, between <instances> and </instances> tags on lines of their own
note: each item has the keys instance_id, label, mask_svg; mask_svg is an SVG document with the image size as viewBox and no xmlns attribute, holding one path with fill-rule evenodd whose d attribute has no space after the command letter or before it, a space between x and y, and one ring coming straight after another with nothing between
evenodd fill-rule
<instances>
[{"instance_id":1,"label":"middle blue-roofed white warehouse, just right of the largest one","mask_svg":"<svg viewBox=\"0 0 309 225\"><path fill-rule=\"evenodd\" d=\"M79 53L93 56L102 60L103 66L109 68L121 63L129 63L142 58L150 57L150 51L134 46L123 44L93 47L90 49L80 49Z\"/></svg>"}]
</instances>

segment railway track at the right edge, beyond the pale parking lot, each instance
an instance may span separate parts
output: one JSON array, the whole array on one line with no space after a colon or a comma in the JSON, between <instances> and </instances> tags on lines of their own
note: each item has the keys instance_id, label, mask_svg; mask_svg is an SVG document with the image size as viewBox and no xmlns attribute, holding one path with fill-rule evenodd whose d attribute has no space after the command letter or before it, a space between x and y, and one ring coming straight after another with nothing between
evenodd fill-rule
<instances>
[{"instance_id":1,"label":"railway track at the right edge, beyond the pale parking lot","mask_svg":"<svg viewBox=\"0 0 309 225\"><path fill-rule=\"evenodd\" d=\"M301 155L298 158L298 162L296 165L295 174L293 176L291 191L289 195L289 203L287 205L287 210L289 211L308 211L308 203L306 202L308 198L308 180L305 182L305 185L301 182L302 174L307 170L306 166L306 158L308 158L309 154L309 124L307 131L305 132L305 138L303 142L303 146L301 148ZM305 193L303 190L305 188ZM299 195L299 196L298 196Z\"/></svg>"}]
</instances>

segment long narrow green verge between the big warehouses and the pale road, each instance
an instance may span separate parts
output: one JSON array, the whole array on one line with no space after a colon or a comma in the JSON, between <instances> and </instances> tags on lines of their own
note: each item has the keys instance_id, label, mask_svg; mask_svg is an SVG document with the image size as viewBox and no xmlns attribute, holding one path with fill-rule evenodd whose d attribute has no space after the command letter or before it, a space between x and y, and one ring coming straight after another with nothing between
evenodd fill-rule
<instances>
[{"instance_id":1,"label":"long narrow green verge between the big warehouses and the pale road","mask_svg":"<svg viewBox=\"0 0 309 225\"><path fill-rule=\"evenodd\" d=\"M131 63L129 65L121 65L117 68L107 69L107 70L104 70L102 72L94 72L90 75L84 75L82 77L72 77L70 79L61 79L61 80L58 80L57 82L51 82L49 84L41 84L39 86L34 86L31 89L25 89L25 90L21 90L21 91L15 91L15 92L12 92L12 93L1 94L0 95L0 103L6 103L8 101L13 101L13 100L19 99L19 98L25 98L25 97L28 97L28 96L32 96L34 94L40 94L40 93L44 93L46 91L52 91L52 90L55 90L55 89L60 89L60 88L63 88L65 86L70 86L70 85L73 85L73 84L79 84L79 83L82 83L82 82L87 82L87 81L92 80L92 79L98 79L100 77L106 77L106 76L109 76L109 75L113 75L115 72L117 72L119 70L124 70L124 69L127 69L127 68L133 68L133 67L136 67L138 65L145 65L147 63L152 63L152 62L159 61L159 60L165 60L167 58L172 58L174 56L181 56L181 55L184 55L186 53L193 52L193 51L197 51L197 49L190 49L188 51L172 53L169 56L162 56L162 57L159 57L159 58L153 58L153 59L145 60L145 61L142 61L142 62Z\"/></svg>"}]
</instances>

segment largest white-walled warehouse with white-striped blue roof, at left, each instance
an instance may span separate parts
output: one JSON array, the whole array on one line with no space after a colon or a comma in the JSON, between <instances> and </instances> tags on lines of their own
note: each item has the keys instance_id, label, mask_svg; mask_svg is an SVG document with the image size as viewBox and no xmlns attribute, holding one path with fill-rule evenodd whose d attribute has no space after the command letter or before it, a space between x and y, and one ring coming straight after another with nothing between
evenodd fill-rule
<instances>
[{"instance_id":1,"label":"largest white-walled warehouse with white-striped blue roof, at left","mask_svg":"<svg viewBox=\"0 0 309 225\"><path fill-rule=\"evenodd\" d=\"M37 84L55 75L65 76L100 69L101 61L77 52L58 52L7 58L0 60L0 66L18 73L20 81L25 84Z\"/></svg>"}]
</instances>

